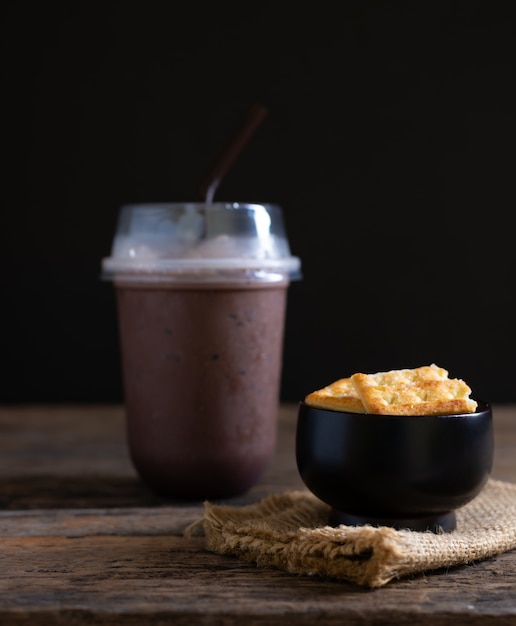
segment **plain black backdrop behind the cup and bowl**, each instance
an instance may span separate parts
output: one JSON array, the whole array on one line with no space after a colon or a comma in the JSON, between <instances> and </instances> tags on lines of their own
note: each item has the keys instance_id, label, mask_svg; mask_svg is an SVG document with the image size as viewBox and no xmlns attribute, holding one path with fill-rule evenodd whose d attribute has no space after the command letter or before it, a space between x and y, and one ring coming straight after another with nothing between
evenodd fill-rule
<instances>
[{"instance_id":1,"label":"plain black backdrop behind the cup and bowl","mask_svg":"<svg viewBox=\"0 0 516 626\"><path fill-rule=\"evenodd\" d=\"M230 7L2 4L0 401L121 400L118 209L191 198L254 102L216 199L302 259L283 399L435 362L516 401L511 3Z\"/></svg>"}]
</instances>

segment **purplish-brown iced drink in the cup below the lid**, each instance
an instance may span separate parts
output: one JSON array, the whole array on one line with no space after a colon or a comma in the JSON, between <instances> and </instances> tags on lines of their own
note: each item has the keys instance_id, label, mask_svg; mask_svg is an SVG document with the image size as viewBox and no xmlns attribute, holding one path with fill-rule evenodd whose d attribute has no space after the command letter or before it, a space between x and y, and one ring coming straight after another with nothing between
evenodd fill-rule
<instances>
[{"instance_id":1,"label":"purplish-brown iced drink in the cup below the lid","mask_svg":"<svg viewBox=\"0 0 516 626\"><path fill-rule=\"evenodd\" d=\"M117 288L129 447L155 491L231 496L267 468L286 288Z\"/></svg>"}]
</instances>

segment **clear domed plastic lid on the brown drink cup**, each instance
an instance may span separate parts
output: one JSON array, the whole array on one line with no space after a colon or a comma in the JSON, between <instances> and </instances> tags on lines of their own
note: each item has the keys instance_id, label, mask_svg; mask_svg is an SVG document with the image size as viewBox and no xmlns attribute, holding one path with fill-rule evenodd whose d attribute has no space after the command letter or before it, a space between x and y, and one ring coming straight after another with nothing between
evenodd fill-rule
<instances>
[{"instance_id":1,"label":"clear domed plastic lid on the brown drink cup","mask_svg":"<svg viewBox=\"0 0 516 626\"><path fill-rule=\"evenodd\" d=\"M115 281L301 278L281 207L251 203L136 204L121 208L102 277Z\"/></svg>"}]
</instances>

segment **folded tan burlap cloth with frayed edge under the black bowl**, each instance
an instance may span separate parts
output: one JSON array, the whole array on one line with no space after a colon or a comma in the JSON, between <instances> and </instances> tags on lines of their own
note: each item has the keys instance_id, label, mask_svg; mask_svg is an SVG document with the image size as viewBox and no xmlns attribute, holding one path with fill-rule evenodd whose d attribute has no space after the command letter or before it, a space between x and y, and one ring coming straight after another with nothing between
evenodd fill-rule
<instances>
[{"instance_id":1,"label":"folded tan burlap cloth with frayed edge under the black bowl","mask_svg":"<svg viewBox=\"0 0 516 626\"><path fill-rule=\"evenodd\" d=\"M385 526L327 526L329 507L307 491L244 507L205 503L185 535L212 552L260 567L381 587L394 578L471 563L516 548L516 484L489 480L456 511L457 528L434 534Z\"/></svg>"}]
</instances>

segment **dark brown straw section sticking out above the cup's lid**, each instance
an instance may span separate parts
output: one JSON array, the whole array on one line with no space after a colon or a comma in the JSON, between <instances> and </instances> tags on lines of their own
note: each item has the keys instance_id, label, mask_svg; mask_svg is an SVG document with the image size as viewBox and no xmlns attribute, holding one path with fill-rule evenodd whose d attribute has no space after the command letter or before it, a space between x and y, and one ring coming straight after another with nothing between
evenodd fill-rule
<instances>
[{"instance_id":1,"label":"dark brown straw section sticking out above the cup's lid","mask_svg":"<svg viewBox=\"0 0 516 626\"><path fill-rule=\"evenodd\" d=\"M261 104L253 104L241 125L230 138L226 147L215 160L199 185L196 200L206 202L207 204L213 202L213 196L221 180L228 173L245 146L251 141L255 132L267 117L267 114L267 109Z\"/></svg>"}]
</instances>

